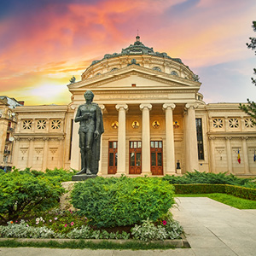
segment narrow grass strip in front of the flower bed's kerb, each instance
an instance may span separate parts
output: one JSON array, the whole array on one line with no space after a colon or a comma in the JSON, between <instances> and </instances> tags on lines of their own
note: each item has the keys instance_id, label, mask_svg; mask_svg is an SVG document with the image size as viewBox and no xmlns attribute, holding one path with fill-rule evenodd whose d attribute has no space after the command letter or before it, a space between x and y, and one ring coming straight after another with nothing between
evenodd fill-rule
<instances>
[{"instance_id":1,"label":"narrow grass strip in front of the flower bed's kerb","mask_svg":"<svg viewBox=\"0 0 256 256\"><path fill-rule=\"evenodd\" d=\"M108 250L154 250L154 249L174 249L171 244L127 241L122 244L114 243L112 241L101 241L94 243L92 241L16 241L14 240L0 240L0 247L49 247L49 248L71 248L71 249L108 249Z\"/></svg>"}]
</instances>

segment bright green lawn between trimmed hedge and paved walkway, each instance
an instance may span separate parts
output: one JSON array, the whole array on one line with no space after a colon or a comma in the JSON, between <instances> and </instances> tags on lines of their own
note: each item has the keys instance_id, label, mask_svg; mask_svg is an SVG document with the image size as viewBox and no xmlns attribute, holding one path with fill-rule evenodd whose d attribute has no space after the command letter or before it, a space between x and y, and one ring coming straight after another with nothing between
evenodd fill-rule
<instances>
[{"instance_id":1,"label":"bright green lawn between trimmed hedge and paved walkway","mask_svg":"<svg viewBox=\"0 0 256 256\"><path fill-rule=\"evenodd\" d=\"M228 205L230 207L235 207L237 209L256 209L256 201L242 199L236 197L234 195L226 195L220 193L212 193L212 194L179 194L175 195L176 197L208 197L212 200L219 201Z\"/></svg>"}]
</instances>

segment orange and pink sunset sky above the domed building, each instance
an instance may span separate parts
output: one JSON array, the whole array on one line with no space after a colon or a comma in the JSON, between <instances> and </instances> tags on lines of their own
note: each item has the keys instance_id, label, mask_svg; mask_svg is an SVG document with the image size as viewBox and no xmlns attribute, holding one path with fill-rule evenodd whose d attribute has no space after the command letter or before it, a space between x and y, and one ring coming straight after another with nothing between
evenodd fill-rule
<instances>
[{"instance_id":1,"label":"orange and pink sunset sky above the domed building","mask_svg":"<svg viewBox=\"0 0 256 256\"><path fill-rule=\"evenodd\" d=\"M256 101L255 0L0 0L0 96L25 105L71 102L105 54L141 42L200 77L206 103Z\"/></svg>"}]
</instances>

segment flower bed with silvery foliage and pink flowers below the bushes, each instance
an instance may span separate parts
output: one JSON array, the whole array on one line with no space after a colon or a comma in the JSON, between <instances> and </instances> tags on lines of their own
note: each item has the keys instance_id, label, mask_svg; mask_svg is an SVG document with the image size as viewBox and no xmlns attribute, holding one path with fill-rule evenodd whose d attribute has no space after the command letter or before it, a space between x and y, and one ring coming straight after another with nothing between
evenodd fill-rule
<instances>
[{"instance_id":1,"label":"flower bed with silvery foliage and pink flowers below the bushes","mask_svg":"<svg viewBox=\"0 0 256 256\"><path fill-rule=\"evenodd\" d=\"M141 241L163 241L180 238L183 233L183 228L172 219L170 212L155 223L147 219L143 220L140 225L118 227L116 232L109 232L109 230L90 226L88 219L79 216L77 212L60 212L55 209L45 214L44 217L9 221L7 225L0 226L0 237L124 240L132 238Z\"/></svg>"}]
</instances>

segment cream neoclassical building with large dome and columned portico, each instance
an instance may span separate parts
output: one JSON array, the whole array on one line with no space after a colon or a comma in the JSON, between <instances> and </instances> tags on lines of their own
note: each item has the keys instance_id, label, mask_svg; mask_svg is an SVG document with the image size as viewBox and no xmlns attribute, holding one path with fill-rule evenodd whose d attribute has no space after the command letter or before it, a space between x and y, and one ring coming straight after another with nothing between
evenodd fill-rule
<instances>
[{"instance_id":1,"label":"cream neoclassical building with large dome and columned portico","mask_svg":"<svg viewBox=\"0 0 256 256\"><path fill-rule=\"evenodd\" d=\"M252 119L239 104L203 102L198 76L138 36L120 53L93 61L81 80L67 87L72 94L67 106L15 108L14 166L79 170L79 123L73 119L84 91L92 90L105 129L99 175L193 170L256 175Z\"/></svg>"}]
</instances>

